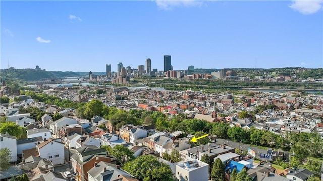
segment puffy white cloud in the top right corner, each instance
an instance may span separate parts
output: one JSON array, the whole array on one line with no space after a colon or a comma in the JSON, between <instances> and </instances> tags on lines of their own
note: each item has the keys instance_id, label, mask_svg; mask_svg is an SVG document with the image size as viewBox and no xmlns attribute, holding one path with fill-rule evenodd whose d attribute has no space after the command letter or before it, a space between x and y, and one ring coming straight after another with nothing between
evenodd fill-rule
<instances>
[{"instance_id":1,"label":"puffy white cloud in the top right corner","mask_svg":"<svg viewBox=\"0 0 323 181\"><path fill-rule=\"evenodd\" d=\"M304 15L313 14L322 9L323 0L292 0L289 8Z\"/></svg>"}]
</instances>

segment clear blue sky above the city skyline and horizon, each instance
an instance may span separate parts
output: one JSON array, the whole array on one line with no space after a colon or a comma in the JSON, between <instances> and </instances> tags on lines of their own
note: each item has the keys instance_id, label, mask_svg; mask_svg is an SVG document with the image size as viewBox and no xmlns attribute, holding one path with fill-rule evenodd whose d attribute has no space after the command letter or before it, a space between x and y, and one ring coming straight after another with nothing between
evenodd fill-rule
<instances>
[{"instance_id":1,"label":"clear blue sky above the city skyline and horizon","mask_svg":"<svg viewBox=\"0 0 323 181\"><path fill-rule=\"evenodd\" d=\"M323 66L319 1L1 1L1 68Z\"/></svg>"}]
</instances>

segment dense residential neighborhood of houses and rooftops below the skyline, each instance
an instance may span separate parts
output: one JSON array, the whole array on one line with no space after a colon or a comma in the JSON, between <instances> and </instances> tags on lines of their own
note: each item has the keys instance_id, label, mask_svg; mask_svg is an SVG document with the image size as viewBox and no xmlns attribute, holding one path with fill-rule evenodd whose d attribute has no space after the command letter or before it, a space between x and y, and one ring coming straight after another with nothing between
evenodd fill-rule
<instances>
[{"instance_id":1,"label":"dense residential neighborhood of houses and rooftops below the skyline","mask_svg":"<svg viewBox=\"0 0 323 181\"><path fill-rule=\"evenodd\" d=\"M97 89L102 89L104 94L88 94ZM86 93L80 94L80 90L86 90ZM197 132L203 132L204 128L188 128L185 125L182 128L181 123L177 123L174 129L169 126L174 118L179 118L183 121L188 119L192 123L202 121L210 127L225 124L228 129L237 128L246 132L259 130L263 131L259 134L266 133L284 139L292 133L315 133L321 142L321 95L260 91L207 94L190 89L168 91L148 86L66 87L61 91L47 87L42 92L47 96L77 103L79 101L74 98L86 94L85 104L98 101L109 108L110 112L115 110L116 114L118 111L120 114L139 114L138 111L140 114L149 114L141 124L134 124L138 120L127 121L134 119L128 117L121 121L123 118L116 118L115 115L93 115L90 119L85 119L79 117L79 109L48 105L31 97L3 104L2 117L7 122L24 127L26 138L19 139L8 132L1 133L1 148L11 151L10 161L15 163L9 169L1 171L2 180L9 180L12 174L18 176L24 172L30 180L49 180L50 174L58 180L69 179L63 174L64 171L70 171L77 180L106 180L108 177L110 180L141 180L123 167L143 155L151 155L161 159L163 164L166 162L170 165L172 179L175 180L211 180L212 166L209 164L218 159L224 166L224 180L231 179L234 169L238 173L245 169L250 180L306 180L319 174L306 168L273 167L277 160L288 163L294 156L297 157L295 151L277 148L277 140L262 143L265 140L262 141L260 136L260 140L254 140L250 144L244 139L238 139L238 136L223 137L208 131L204 132L207 134L204 137L206 142L198 141L195 145L191 142L192 137ZM119 97L123 99L119 100ZM39 121L31 113L20 113L31 107L43 112ZM169 125L163 127L163 122L154 120L154 112L165 117L164 122ZM56 117L58 114L60 118L54 120L54 115ZM196 131L188 132L190 129ZM257 146L265 144L273 147ZM119 159L120 155L113 151L120 149L119 146L130 151L133 158L122 156ZM168 159L175 153L177 159ZM204 157L211 161L203 162Z\"/></svg>"}]
</instances>

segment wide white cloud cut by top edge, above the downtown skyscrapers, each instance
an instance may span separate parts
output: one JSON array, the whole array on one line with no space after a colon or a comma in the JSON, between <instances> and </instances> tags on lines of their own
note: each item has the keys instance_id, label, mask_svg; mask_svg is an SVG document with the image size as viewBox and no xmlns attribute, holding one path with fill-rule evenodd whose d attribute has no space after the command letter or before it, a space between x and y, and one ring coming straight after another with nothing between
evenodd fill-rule
<instances>
[{"instance_id":1,"label":"wide white cloud cut by top edge, above the downtown skyscrapers","mask_svg":"<svg viewBox=\"0 0 323 181\"><path fill-rule=\"evenodd\" d=\"M157 7L161 10L172 10L175 7L195 7L202 6L204 3L202 1L195 0L182 0L182 1L173 1L173 0L155 0Z\"/></svg>"}]
</instances>

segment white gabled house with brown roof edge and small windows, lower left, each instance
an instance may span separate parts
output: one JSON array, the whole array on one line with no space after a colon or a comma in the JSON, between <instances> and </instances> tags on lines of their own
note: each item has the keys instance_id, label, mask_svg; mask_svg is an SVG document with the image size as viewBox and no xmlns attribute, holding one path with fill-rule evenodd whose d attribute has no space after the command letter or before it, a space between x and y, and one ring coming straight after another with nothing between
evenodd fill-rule
<instances>
[{"instance_id":1,"label":"white gabled house with brown roof edge and small windows, lower left","mask_svg":"<svg viewBox=\"0 0 323 181\"><path fill-rule=\"evenodd\" d=\"M47 158L53 165L64 163L64 144L49 138L36 146L39 157Z\"/></svg>"}]
</instances>

